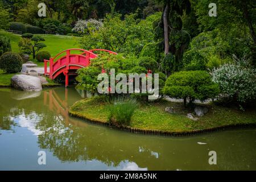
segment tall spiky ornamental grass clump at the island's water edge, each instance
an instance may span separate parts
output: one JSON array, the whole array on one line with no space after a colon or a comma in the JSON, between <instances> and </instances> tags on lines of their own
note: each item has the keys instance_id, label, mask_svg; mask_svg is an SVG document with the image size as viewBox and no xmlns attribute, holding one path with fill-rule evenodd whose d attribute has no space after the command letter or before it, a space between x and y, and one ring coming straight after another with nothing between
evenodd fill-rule
<instances>
[{"instance_id":1,"label":"tall spiky ornamental grass clump at the island's water edge","mask_svg":"<svg viewBox=\"0 0 256 182\"><path fill-rule=\"evenodd\" d=\"M137 101L129 97L117 97L110 100L108 109L109 122L115 126L129 126L131 117L137 109Z\"/></svg>"}]
</instances>

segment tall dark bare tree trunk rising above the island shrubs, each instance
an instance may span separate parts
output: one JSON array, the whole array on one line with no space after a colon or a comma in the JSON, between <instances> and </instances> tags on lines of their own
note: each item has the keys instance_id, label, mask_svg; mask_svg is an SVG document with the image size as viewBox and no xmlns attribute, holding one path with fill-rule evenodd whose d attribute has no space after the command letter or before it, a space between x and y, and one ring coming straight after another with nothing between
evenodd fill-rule
<instances>
[{"instance_id":1,"label":"tall dark bare tree trunk rising above the island shrubs","mask_svg":"<svg viewBox=\"0 0 256 182\"><path fill-rule=\"evenodd\" d=\"M168 28L168 15L169 15L169 5L166 5L163 13L163 26L164 26L164 53L167 55L169 53L169 28Z\"/></svg>"}]
</instances>

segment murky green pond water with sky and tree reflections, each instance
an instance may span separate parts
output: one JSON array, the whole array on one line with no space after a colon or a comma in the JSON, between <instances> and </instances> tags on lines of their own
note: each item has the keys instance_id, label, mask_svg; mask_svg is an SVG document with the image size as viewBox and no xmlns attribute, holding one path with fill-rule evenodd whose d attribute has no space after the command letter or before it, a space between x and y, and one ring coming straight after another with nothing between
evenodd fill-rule
<instances>
[{"instance_id":1,"label":"murky green pond water with sky and tree reflections","mask_svg":"<svg viewBox=\"0 0 256 182\"><path fill-rule=\"evenodd\" d=\"M256 129L127 133L70 117L68 107L82 97L74 88L0 89L0 170L256 170ZM38 164L39 151L46 165ZM216 165L209 151L216 151Z\"/></svg>"}]
</instances>

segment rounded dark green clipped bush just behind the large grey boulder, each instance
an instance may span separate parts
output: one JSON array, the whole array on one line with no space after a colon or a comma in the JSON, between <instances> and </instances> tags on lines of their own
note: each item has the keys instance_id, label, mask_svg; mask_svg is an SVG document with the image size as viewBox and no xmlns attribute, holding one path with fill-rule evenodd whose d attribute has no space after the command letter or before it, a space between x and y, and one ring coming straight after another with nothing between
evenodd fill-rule
<instances>
[{"instance_id":1,"label":"rounded dark green clipped bush just behind the large grey boulder","mask_svg":"<svg viewBox=\"0 0 256 182\"><path fill-rule=\"evenodd\" d=\"M0 57L0 69L6 73L18 73L22 69L22 58L18 53L6 52Z\"/></svg>"}]
</instances>

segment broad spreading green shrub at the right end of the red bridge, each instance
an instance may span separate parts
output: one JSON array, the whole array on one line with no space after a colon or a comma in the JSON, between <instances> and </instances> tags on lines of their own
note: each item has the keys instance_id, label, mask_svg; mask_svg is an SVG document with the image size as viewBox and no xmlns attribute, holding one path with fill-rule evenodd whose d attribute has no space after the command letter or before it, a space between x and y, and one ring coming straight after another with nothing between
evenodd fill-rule
<instances>
[{"instance_id":1,"label":"broad spreading green shrub at the right end of the red bridge","mask_svg":"<svg viewBox=\"0 0 256 182\"><path fill-rule=\"evenodd\" d=\"M101 55L97 59L91 61L90 67L79 69L79 75L76 78L79 82L78 87L92 93L97 93L97 86L101 82L101 80L97 80L97 77L102 73L102 69L109 75L109 79L111 69L115 69L115 76L118 73L125 74L127 77L126 82L129 82L129 73L147 74L148 70L150 70L152 73L159 73L160 90L164 86L165 75L158 71L157 63L151 57L141 57L137 59L134 56ZM109 93L108 91L109 90L104 90L105 93ZM147 96L148 94L143 95L143 97Z\"/></svg>"}]
</instances>

